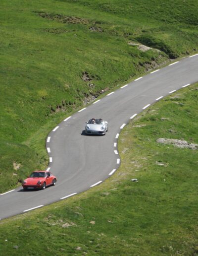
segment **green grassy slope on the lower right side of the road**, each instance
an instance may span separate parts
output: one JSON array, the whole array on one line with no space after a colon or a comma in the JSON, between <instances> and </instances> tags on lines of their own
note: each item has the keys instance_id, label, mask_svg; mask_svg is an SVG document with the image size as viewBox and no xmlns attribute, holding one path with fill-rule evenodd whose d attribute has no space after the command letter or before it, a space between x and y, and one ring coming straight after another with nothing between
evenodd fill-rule
<instances>
[{"instance_id":1,"label":"green grassy slope on the lower right side of the road","mask_svg":"<svg viewBox=\"0 0 198 256\"><path fill-rule=\"evenodd\" d=\"M0 221L0 254L197 255L198 147L157 142L198 144L197 130L198 83L125 126L122 164L104 183Z\"/></svg>"}]
</instances>

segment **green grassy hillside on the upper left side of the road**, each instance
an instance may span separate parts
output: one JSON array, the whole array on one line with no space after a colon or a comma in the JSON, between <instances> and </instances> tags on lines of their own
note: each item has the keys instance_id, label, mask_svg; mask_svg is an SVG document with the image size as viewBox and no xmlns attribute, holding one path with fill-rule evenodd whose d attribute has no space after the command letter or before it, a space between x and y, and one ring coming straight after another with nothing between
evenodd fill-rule
<instances>
[{"instance_id":1,"label":"green grassy hillside on the upper left side of the road","mask_svg":"<svg viewBox=\"0 0 198 256\"><path fill-rule=\"evenodd\" d=\"M196 4L1 0L0 192L47 166L45 138L69 113L169 58L195 53Z\"/></svg>"}]
</instances>

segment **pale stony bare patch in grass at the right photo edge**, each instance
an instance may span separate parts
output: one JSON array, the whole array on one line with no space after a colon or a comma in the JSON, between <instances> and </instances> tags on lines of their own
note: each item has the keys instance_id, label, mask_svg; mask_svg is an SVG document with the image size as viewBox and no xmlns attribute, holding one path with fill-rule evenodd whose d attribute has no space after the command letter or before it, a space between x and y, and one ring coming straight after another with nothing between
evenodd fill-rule
<instances>
[{"instance_id":1,"label":"pale stony bare patch in grass at the right photo edge","mask_svg":"<svg viewBox=\"0 0 198 256\"><path fill-rule=\"evenodd\" d=\"M194 150L198 149L198 144L189 143L186 140L181 140L181 139L158 138L157 142L163 143L163 144L174 145L174 146L180 147L180 148L190 148L190 149L194 149Z\"/></svg>"}]
</instances>

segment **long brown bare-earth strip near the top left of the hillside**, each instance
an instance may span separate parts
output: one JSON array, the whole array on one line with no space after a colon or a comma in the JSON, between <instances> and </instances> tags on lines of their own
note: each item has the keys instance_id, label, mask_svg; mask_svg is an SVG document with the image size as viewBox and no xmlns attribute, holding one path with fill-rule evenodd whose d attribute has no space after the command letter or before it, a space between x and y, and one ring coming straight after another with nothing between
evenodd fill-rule
<instances>
[{"instance_id":1,"label":"long brown bare-earth strip near the top left of the hillside","mask_svg":"<svg viewBox=\"0 0 198 256\"><path fill-rule=\"evenodd\" d=\"M56 20L60 23L71 23L71 24L88 24L89 20L79 17L73 17L73 16L65 16L62 14L55 14L55 13L48 13L48 12L40 12L39 16L42 18L47 18L50 20Z\"/></svg>"}]
</instances>

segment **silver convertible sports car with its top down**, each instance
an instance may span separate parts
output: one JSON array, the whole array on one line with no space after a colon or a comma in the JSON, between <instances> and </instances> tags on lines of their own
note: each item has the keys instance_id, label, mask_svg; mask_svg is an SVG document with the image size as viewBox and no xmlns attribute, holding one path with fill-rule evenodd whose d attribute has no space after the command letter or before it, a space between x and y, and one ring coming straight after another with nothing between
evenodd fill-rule
<instances>
[{"instance_id":1,"label":"silver convertible sports car with its top down","mask_svg":"<svg viewBox=\"0 0 198 256\"><path fill-rule=\"evenodd\" d=\"M102 119L92 118L86 122L85 133L86 134L101 134L104 135L108 130L108 123Z\"/></svg>"}]
</instances>

